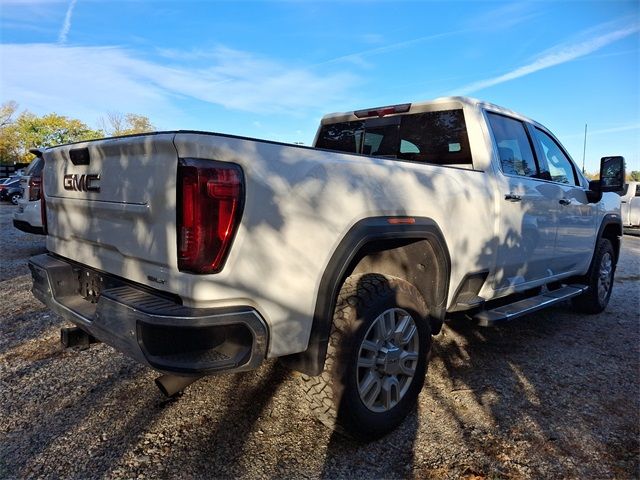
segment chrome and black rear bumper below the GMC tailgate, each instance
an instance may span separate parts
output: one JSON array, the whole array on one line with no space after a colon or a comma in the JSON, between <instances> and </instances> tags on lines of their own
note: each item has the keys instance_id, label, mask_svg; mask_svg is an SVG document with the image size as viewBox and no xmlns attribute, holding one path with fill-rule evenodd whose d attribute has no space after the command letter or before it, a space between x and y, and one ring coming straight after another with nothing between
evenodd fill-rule
<instances>
[{"instance_id":1,"label":"chrome and black rear bumper below the GMC tailgate","mask_svg":"<svg viewBox=\"0 0 640 480\"><path fill-rule=\"evenodd\" d=\"M29 268L38 300L98 340L161 372L238 372L254 369L264 360L267 328L251 307L184 307L50 254L32 257ZM80 293L84 275L99 279L104 287L95 303Z\"/></svg>"}]
</instances>

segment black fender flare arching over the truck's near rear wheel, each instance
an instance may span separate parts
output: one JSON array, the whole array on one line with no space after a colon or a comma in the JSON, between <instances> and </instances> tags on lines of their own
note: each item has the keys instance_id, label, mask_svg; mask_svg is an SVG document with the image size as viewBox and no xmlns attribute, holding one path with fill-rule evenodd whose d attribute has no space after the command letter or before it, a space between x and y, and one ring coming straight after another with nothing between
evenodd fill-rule
<instances>
[{"instance_id":1,"label":"black fender flare arching over the truck's near rear wheel","mask_svg":"<svg viewBox=\"0 0 640 480\"><path fill-rule=\"evenodd\" d=\"M324 369L327 344L333 322L338 293L346 277L353 271L364 247L378 241L427 240L434 250L439 270L439 294L429 305L432 323L442 325L451 274L451 257L437 223L426 217L370 217L357 222L343 237L327 263L320 280L313 323L307 349L281 358L287 367L308 375L319 375ZM425 286L426 287L426 286Z\"/></svg>"}]
</instances>

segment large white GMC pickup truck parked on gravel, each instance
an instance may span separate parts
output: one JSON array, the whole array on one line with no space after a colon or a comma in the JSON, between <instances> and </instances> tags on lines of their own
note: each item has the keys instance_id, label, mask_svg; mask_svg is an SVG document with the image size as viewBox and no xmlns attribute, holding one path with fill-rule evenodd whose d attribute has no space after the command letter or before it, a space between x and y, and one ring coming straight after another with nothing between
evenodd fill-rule
<instances>
[{"instance_id":1,"label":"large white GMC pickup truck parked on gravel","mask_svg":"<svg viewBox=\"0 0 640 480\"><path fill-rule=\"evenodd\" d=\"M325 116L314 148L175 131L44 151L33 292L165 375L279 357L325 424L375 438L444 321L607 305L624 160L589 183L542 125L449 97Z\"/></svg>"}]
</instances>

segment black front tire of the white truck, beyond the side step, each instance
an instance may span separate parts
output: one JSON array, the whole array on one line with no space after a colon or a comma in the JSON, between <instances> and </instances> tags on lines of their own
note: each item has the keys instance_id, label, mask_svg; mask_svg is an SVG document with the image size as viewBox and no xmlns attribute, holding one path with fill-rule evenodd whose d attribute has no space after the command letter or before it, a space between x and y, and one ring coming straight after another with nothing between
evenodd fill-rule
<instances>
[{"instance_id":1,"label":"black front tire of the white truck, beyond the side step","mask_svg":"<svg viewBox=\"0 0 640 480\"><path fill-rule=\"evenodd\" d=\"M609 286L605 296L599 294L599 286L602 282L601 274L603 262L606 263L607 258L611 264ZM613 280L616 270L616 257L613 251L611 241L607 238L601 238L596 244L596 252L593 256L593 261L589 267L589 271L584 276L584 283L589 289L583 294L571 299L573 307L582 312L588 314L601 313L609 303L611 298L611 292L613 290Z\"/></svg>"}]
</instances>

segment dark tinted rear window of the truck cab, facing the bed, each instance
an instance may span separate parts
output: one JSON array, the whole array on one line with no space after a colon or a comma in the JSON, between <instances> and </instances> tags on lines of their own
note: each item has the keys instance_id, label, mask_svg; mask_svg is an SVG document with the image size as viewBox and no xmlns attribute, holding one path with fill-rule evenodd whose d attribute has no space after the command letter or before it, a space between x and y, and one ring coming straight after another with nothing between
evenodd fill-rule
<instances>
[{"instance_id":1,"label":"dark tinted rear window of the truck cab, facing the bed","mask_svg":"<svg viewBox=\"0 0 640 480\"><path fill-rule=\"evenodd\" d=\"M324 125L316 147L437 165L472 163L461 109Z\"/></svg>"}]
</instances>

